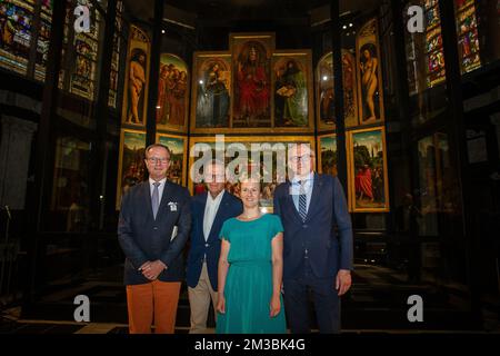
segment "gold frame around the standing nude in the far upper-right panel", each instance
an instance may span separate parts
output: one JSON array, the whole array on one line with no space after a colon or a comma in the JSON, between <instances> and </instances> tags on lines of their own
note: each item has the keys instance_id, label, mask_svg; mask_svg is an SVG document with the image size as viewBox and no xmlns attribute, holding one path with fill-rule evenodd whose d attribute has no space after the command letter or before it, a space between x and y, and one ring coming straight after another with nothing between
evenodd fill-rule
<instances>
[{"instance_id":1,"label":"gold frame around the standing nude in the far upper-right panel","mask_svg":"<svg viewBox=\"0 0 500 356\"><path fill-rule=\"evenodd\" d=\"M370 33L370 36L362 36L364 32L369 31L371 32L373 30L373 33ZM362 37L361 37L362 36ZM363 40L361 40L363 39ZM361 53L360 49L362 46L372 43L374 47L377 47L377 61L378 61L378 83L377 83L377 91L379 92L379 115L380 117L377 118L377 120L371 121L363 121L363 97L362 97L362 76L359 71L359 61L361 60ZM386 120L386 112L384 112L384 105L383 105L383 76L382 76L382 67L381 67L381 60L380 60L380 40L379 40L379 24L377 21L377 18L369 20L364 26L358 31L358 34L356 37L356 60L357 60L357 81L358 81L358 125L359 126L367 126L367 125L373 125L373 123L381 123Z\"/></svg>"}]
</instances>

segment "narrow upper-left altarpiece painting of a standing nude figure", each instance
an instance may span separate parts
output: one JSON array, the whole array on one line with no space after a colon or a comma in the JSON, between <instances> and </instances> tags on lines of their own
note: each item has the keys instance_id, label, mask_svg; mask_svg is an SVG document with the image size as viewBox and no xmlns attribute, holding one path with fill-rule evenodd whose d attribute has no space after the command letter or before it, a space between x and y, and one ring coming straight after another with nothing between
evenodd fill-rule
<instances>
[{"instance_id":1,"label":"narrow upper-left altarpiece painting of a standing nude figure","mask_svg":"<svg viewBox=\"0 0 500 356\"><path fill-rule=\"evenodd\" d=\"M130 27L123 90L123 123L144 126L148 107L150 40L138 27Z\"/></svg>"}]
</instances>

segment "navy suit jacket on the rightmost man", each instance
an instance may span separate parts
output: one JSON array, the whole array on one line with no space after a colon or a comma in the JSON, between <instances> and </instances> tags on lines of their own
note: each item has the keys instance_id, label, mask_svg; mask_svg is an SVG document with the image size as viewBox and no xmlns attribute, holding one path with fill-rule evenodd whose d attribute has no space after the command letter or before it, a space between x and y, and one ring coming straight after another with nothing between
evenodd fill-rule
<instances>
[{"instance_id":1,"label":"navy suit jacket on the rightmost man","mask_svg":"<svg viewBox=\"0 0 500 356\"><path fill-rule=\"evenodd\" d=\"M284 228L283 279L300 277L306 249L318 278L333 277L339 269L352 269L351 217L339 179L314 172L304 222L293 204L290 186L290 181L283 182L274 191L274 214L280 216Z\"/></svg>"}]
</instances>

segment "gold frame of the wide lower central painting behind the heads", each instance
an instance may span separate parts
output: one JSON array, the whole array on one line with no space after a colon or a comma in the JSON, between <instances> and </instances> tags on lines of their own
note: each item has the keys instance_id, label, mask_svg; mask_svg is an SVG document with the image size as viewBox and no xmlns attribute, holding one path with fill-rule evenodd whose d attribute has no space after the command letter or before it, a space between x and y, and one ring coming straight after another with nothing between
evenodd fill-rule
<instances>
[{"instance_id":1,"label":"gold frame of the wide lower central painting behind the heads","mask_svg":"<svg viewBox=\"0 0 500 356\"><path fill-rule=\"evenodd\" d=\"M191 167L194 162L194 157L191 157L191 149L196 144L213 144L216 142L216 137L192 137L189 141L189 170L188 170L188 188L191 195L193 194L192 187L193 181L191 179ZM311 145L311 149L316 150L316 139L314 136L231 136L224 137L224 142L283 142L283 144L293 144L293 142L308 142Z\"/></svg>"}]
</instances>

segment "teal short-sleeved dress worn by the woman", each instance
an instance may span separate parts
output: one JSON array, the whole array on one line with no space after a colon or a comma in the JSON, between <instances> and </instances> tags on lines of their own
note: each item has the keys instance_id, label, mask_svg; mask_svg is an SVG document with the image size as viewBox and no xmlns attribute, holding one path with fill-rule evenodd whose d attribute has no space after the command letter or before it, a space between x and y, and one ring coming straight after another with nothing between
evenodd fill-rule
<instances>
[{"instance_id":1,"label":"teal short-sleeved dress worn by the woman","mask_svg":"<svg viewBox=\"0 0 500 356\"><path fill-rule=\"evenodd\" d=\"M262 215L251 221L226 220L220 238L231 244L226 278L226 314L217 315L217 334L284 334L284 304L271 318L271 240L283 231L277 215Z\"/></svg>"}]
</instances>

